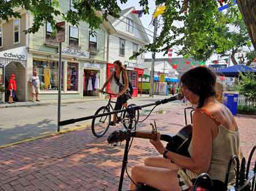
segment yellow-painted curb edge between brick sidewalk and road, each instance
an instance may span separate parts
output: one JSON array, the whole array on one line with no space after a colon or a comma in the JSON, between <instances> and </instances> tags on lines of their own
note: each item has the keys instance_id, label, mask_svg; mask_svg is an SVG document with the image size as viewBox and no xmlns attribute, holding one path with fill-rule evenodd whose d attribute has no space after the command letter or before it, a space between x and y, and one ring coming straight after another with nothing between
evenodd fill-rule
<instances>
[{"instance_id":1,"label":"yellow-painted curb edge between brick sidewalk and road","mask_svg":"<svg viewBox=\"0 0 256 191\"><path fill-rule=\"evenodd\" d=\"M18 142L13 142L13 143L9 143L9 144L4 144L3 146L0 146L0 149L2 148L6 148L6 147L11 147L11 146L15 146L16 144L22 144L22 143L27 143L27 142L32 142L34 140L38 140L38 139L43 139L43 138L49 138L52 136L57 136L57 135L61 135L61 134L66 134L68 132L72 132L72 131L78 131L81 130L82 128L87 128L91 126L91 123L86 123L85 125L81 126L81 127L73 127L73 128L68 128L67 130L61 130L60 132L53 132L53 133L49 133L46 135L42 135L42 136L34 136L32 138L27 138L24 140L19 140Z\"/></svg>"}]
</instances>

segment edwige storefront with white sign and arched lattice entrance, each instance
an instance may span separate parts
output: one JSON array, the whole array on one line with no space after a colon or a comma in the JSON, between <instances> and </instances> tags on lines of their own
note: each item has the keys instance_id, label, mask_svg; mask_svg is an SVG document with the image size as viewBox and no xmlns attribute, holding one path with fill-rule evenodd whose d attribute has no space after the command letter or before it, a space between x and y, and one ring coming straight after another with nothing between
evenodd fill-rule
<instances>
[{"instance_id":1,"label":"edwige storefront with white sign and arched lattice entrance","mask_svg":"<svg viewBox=\"0 0 256 191\"><path fill-rule=\"evenodd\" d=\"M17 86L15 101L26 101L27 47L18 47L0 52L0 102L9 98L8 84L11 74L15 75Z\"/></svg>"}]
</instances>

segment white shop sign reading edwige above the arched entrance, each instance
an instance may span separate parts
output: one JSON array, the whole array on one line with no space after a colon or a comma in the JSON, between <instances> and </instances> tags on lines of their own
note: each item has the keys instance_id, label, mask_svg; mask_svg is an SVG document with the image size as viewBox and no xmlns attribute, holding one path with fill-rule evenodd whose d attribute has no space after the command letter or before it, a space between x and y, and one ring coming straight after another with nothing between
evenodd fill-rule
<instances>
[{"instance_id":1,"label":"white shop sign reading edwige above the arched entrance","mask_svg":"<svg viewBox=\"0 0 256 191\"><path fill-rule=\"evenodd\" d=\"M27 47L13 48L0 52L0 57L6 59L27 60Z\"/></svg>"}]
</instances>

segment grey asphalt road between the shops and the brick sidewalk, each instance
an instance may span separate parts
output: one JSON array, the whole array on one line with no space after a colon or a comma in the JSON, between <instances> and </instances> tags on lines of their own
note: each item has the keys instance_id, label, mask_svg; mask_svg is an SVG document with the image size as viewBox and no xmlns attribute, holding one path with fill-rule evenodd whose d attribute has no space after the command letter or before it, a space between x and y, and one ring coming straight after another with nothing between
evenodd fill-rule
<instances>
[{"instance_id":1,"label":"grey asphalt road between the shops and the brick sidewalk","mask_svg":"<svg viewBox=\"0 0 256 191\"><path fill-rule=\"evenodd\" d=\"M144 105L167 98L155 96L154 98L131 99L129 103ZM84 101L77 103L63 103L61 105L61 121L71 118L80 118L93 115L95 111L106 105L107 101ZM180 104L179 101L160 105L157 110L170 109L171 105ZM151 107L144 108L142 112L147 113ZM80 127L89 124L90 121L74 123L63 126L61 129ZM0 109L0 146L19 140L41 136L56 132L57 130L57 104L36 105L26 107L9 107Z\"/></svg>"}]
</instances>

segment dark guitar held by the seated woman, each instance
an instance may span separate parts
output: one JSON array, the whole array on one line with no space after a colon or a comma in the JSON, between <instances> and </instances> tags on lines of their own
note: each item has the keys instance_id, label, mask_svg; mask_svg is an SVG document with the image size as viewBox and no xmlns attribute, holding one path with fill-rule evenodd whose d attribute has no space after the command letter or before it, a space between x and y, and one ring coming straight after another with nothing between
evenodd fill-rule
<instances>
[{"instance_id":1,"label":"dark guitar held by the seated woman","mask_svg":"<svg viewBox=\"0 0 256 191\"><path fill-rule=\"evenodd\" d=\"M156 132L146 132L146 131L114 131L108 137L108 143L113 144L117 142L123 142L127 138L142 138L142 139L153 139L157 138ZM167 142L166 149L175 152L179 155L188 156L188 147L192 139L192 125L181 128L176 135L163 134L160 136L160 140Z\"/></svg>"}]
</instances>

